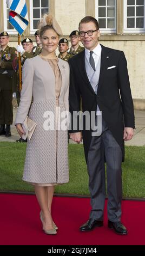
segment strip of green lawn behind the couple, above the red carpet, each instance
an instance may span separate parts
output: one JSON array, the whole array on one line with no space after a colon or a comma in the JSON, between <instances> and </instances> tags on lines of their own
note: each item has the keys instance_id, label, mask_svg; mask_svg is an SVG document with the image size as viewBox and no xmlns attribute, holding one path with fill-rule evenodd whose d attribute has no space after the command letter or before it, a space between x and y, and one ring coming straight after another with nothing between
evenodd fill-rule
<instances>
[{"instance_id":1,"label":"strip of green lawn behind the couple, above the red carpet","mask_svg":"<svg viewBox=\"0 0 145 256\"><path fill-rule=\"evenodd\" d=\"M34 191L22 181L26 144L0 142L0 190ZM145 147L126 147L123 197L145 197ZM88 174L83 145L69 144L70 182L56 186L56 193L88 195Z\"/></svg>"}]
</instances>

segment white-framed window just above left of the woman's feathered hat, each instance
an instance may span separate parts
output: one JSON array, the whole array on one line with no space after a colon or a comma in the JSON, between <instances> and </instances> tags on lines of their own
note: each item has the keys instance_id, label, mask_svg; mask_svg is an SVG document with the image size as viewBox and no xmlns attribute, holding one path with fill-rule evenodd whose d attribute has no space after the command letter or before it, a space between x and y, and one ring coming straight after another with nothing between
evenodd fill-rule
<instances>
[{"instance_id":1,"label":"white-framed window just above left of the woman's feathered hat","mask_svg":"<svg viewBox=\"0 0 145 256\"><path fill-rule=\"evenodd\" d=\"M37 23L43 14L49 12L49 0L31 0L30 1L30 31L34 33L37 30Z\"/></svg>"}]
</instances>

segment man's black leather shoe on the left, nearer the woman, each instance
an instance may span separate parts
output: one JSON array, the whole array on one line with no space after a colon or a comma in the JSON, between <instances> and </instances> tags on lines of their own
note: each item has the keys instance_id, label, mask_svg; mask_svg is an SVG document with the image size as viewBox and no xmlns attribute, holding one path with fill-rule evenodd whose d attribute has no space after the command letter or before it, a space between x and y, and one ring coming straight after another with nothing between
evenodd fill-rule
<instances>
[{"instance_id":1,"label":"man's black leather shoe on the left, nearer the woman","mask_svg":"<svg viewBox=\"0 0 145 256\"><path fill-rule=\"evenodd\" d=\"M81 227L80 230L83 232L86 231L91 231L96 227L102 227L103 226L103 221L96 221L93 218L89 218L87 223L84 223Z\"/></svg>"}]
</instances>

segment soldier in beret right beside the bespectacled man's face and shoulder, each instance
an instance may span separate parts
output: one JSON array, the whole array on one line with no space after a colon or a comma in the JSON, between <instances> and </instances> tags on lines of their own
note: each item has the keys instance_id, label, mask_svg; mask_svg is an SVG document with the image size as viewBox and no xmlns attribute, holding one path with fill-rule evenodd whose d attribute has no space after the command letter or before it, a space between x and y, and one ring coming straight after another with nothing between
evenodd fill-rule
<instances>
[{"instance_id":1,"label":"soldier in beret right beside the bespectacled man's face and shoulder","mask_svg":"<svg viewBox=\"0 0 145 256\"><path fill-rule=\"evenodd\" d=\"M84 47L79 45L79 32L77 30L72 31L69 35L70 37L70 42L71 42L71 48L70 48L70 53L73 53L74 55L78 54L79 52L82 52L84 50Z\"/></svg>"}]
</instances>

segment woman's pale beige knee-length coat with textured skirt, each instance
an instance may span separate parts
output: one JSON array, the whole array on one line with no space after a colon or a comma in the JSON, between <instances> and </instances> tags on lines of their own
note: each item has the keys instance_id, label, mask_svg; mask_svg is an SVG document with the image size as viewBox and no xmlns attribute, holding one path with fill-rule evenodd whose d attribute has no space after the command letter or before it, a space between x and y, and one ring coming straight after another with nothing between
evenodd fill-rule
<instances>
[{"instance_id":1,"label":"woman's pale beige knee-length coat with textured skirt","mask_svg":"<svg viewBox=\"0 0 145 256\"><path fill-rule=\"evenodd\" d=\"M58 100L61 117L62 112L69 111L69 64L58 58L58 67L62 77ZM22 77L21 102L15 124L22 124L28 112L29 117L37 123L34 134L27 143L23 180L38 184L66 183L69 181L68 131L44 129L44 123L49 123L48 111L54 113L54 127L56 124L54 71L49 62L36 56L25 61ZM32 96L34 101L31 105Z\"/></svg>"}]
</instances>

